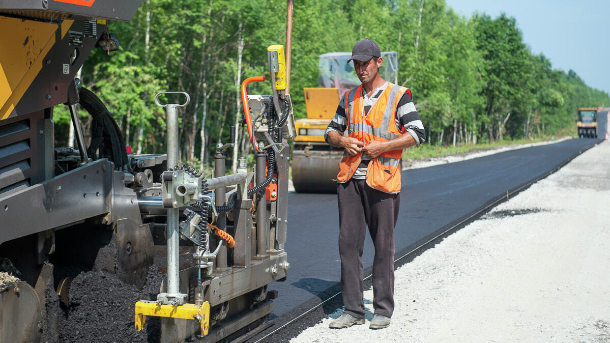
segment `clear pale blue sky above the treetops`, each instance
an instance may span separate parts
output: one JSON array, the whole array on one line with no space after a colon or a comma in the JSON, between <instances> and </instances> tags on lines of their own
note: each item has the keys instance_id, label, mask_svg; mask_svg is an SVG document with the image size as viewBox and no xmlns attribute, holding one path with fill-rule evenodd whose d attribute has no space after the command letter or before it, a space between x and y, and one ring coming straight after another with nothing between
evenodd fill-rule
<instances>
[{"instance_id":1,"label":"clear pale blue sky above the treetops","mask_svg":"<svg viewBox=\"0 0 610 343\"><path fill-rule=\"evenodd\" d=\"M513 16L534 54L554 69L576 71L587 85L610 93L610 1L446 0L467 18L475 11ZM425 5L425 2L424 2Z\"/></svg>"}]
</instances>

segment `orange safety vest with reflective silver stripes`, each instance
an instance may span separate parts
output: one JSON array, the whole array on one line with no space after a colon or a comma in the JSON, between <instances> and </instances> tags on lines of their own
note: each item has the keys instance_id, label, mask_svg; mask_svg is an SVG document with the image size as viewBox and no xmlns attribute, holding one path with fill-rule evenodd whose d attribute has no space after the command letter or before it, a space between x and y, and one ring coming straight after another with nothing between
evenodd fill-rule
<instances>
[{"instance_id":1,"label":"orange safety vest with reflective silver stripes","mask_svg":"<svg viewBox=\"0 0 610 343\"><path fill-rule=\"evenodd\" d=\"M398 101L404 92L411 95L411 91L406 87L389 83L366 117L364 116L364 106L362 106L362 85L346 93L344 105L348 118L348 137L360 140L365 146L372 140L384 142L400 137L403 132L396 126L395 114ZM400 192L402 154L403 150L392 150L375 157L367 167L368 186L386 193ZM337 182L349 181L361 161L362 153L355 156L344 153L343 159L339 162Z\"/></svg>"}]
</instances>

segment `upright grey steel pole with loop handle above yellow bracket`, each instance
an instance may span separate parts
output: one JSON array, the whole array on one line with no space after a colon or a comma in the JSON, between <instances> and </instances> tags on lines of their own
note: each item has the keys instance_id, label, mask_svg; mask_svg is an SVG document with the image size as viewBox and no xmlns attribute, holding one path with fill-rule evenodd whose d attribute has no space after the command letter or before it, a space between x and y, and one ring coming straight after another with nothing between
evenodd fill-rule
<instances>
[{"instance_id":1,"label":"upright grey steel pole with loop handle above yellow bracket","mask_svg":"<svg viewBox=\"0 0 610 343\"><path fill-rule=\"evenodd\" d=\"M168 168L178 165L178 111L176 107L178 107L176 104L165 106ZM167 292L169 294L180 293L178 211L177 208L167 210Z\"/></svg>"}]
</instances>

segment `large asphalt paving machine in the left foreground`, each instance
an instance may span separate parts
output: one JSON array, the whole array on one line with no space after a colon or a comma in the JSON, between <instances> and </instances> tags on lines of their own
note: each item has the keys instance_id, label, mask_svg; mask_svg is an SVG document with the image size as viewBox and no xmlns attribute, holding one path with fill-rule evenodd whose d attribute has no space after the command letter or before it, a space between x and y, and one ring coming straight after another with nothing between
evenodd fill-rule
<instances>
[{"instance_id":1,"label":"large asphalt paving machine in the left foreground","mask_svg":"<svg viewBox=\"0 0 610 343\"><path fill-rule=\"evenodd\" d=\"M182 90L159 90L149 104L167 117L167 154L128 154L113 115L76 73L92 49L118 49L109 21L131 20L140 2L0 0L0 342L107 341L127 330L148 331L122 341L217 342L270 314L277 292L268 285L286 279L287 142L296 130L284 48L270 46L269 73L242 84L253 165L240 157L238 172L225 175L232 140L217 144L213 177L178 160L176 112L190 101ZM246 93L265 79L272 94ZM75 148L56 146L62 104ZM90 142L79 110L92 117ZM151 298L125 301L155 267L166 276ZM85 276L95 286L84 294L102 301L74 303ZM87 306L127 306L129 319L90 313L95 333L76 327L62 338Z\"/></svg>"}]
</instances>

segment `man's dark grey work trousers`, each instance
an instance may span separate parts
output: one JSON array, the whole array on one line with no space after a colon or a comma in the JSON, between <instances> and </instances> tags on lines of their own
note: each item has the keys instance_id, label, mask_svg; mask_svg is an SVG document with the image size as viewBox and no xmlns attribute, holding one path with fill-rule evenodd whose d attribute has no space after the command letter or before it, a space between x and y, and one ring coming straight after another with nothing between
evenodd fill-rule
<instances>
[{"instance_id":1,"label":"man's dark grey work trousers","mask_svg":"<svg viewBox=\"0 0 610 343\"><path fill-rule=\"evenodd\" d=\"M339 256L341 292L345 312L364 318L364 269L362 251L368 232L375 245L373 259L373 308L392 317L394 311L394 228L398 220L400 193L388 194L350 179L337 187L339 198Z\"/></svg>"}]
</instances>

